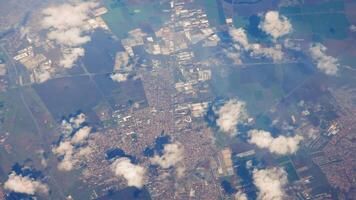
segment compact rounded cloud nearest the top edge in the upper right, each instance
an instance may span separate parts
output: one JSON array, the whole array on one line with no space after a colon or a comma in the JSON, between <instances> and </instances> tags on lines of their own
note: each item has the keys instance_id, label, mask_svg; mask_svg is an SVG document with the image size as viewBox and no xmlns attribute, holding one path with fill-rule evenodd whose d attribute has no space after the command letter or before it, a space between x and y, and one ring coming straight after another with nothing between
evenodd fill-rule
<instances>
[{"instance_id":1,"label":"compact rounded cloud nearest the top edge in the upper right","mask_svg":"<svg viewBox=\"0 0 356 200\"><path fill-rule=\"evenodd\" d=\"M277 11L268 11L259 28L271 35L274 39L287 35L292 32L293 27L289 20L280 15Z\"/></svg>"}]
</instances>

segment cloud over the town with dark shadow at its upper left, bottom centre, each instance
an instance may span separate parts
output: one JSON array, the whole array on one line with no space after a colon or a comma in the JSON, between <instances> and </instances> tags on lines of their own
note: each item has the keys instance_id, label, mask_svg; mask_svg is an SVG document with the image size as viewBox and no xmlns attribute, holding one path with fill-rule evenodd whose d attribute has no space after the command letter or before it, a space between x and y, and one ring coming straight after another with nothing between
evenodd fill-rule
<instances>
[{"instance_id":1,"label":"cloud over the town with dark shadow at its upper left, bottom centre","mask_svg":"<svg viewBox=\"0 0 356 200\"><path fill-rule=\"evenodd\" d=\"M184 149L180 143L166 144L163 149L163 155L155 155L151 162L158 164L163 169L168 169L175 166L184 158Z\"/></svg>"}]
</instances>

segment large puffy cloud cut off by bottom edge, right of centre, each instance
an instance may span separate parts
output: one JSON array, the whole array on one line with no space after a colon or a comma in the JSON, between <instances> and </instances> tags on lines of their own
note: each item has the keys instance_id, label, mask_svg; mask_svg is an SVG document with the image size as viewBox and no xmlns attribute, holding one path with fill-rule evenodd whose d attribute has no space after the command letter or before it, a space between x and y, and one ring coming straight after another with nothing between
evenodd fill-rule
<instances>
[{"instance_id":1,"label":"large puffy cloud cut off by bottom edge, right of centre","mask_svg":"<svg viewBox=\"0 0 356 200\"><path fill-rule=\"evenodd\" d=\"M282 200L286 194L287 173L281 168L253 170L253 182L258 189L259 200Z\"/></svg>"}]
</instances>

